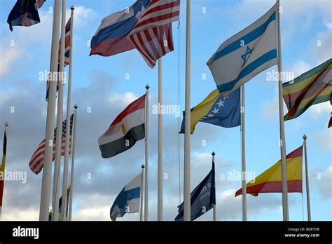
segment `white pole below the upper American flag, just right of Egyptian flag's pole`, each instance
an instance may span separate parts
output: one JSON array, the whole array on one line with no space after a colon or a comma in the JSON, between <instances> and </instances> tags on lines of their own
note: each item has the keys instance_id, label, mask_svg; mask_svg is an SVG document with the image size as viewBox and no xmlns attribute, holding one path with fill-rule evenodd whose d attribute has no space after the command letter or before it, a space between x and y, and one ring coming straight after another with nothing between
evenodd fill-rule
<instances>
[{"instance_id":1,"label":"white pole below the upper American flag, just right of Egyptian flag's pole","mask_svg":"<svg viewBox=\"0 0 332 244\"><path fill-rule=\"evenodd\" d=\"M158 59L158 105L162 106L162 58ZM158 221L163 219L162 199L162 114L158 112Z\"/></svg>"}]
</instances>

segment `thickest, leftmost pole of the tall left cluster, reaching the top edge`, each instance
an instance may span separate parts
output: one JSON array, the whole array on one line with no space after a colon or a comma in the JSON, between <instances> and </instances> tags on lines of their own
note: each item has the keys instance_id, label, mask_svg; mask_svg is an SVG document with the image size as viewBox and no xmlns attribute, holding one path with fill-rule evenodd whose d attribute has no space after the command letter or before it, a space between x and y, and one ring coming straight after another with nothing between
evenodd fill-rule
<instances>
[{"instance_id":1,"label":"thickest, leftmost pole of the tall left cluster, reaching the top edge","mask_svg":"<svg viewBox=\"0 0 332 244\"><path fill-rule=\"evenodd\" d=\"M55 0L53 15L53 34L50 61L50 86L48 91L48 107L46 118L46 135L45 135L45 156L43 162L43 178L41 182L41 205L39 208L39 220L48 220L48 208L50 205L50 181L52 174L53 159L53 137L55 121L55 100L57 89L57 78L53 77L57 72L58 51L59 51L59 32L60 32L60 0Z\"/></svg>"}]
</instances>

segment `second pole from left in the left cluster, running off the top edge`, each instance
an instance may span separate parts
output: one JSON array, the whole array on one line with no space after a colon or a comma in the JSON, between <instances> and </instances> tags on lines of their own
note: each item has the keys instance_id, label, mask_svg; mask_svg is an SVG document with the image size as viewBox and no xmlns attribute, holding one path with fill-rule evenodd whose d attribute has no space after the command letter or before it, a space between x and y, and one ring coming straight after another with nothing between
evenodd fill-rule
<instances>
[{"instance_id":1,"label":"second pole from left in the left cluster, running off the top edge","mask_svg":"<svg viewBox=\"0 0 332 244\"><path fill-rule=\"evenodd\" d=\"M64 35L66 28L66 1L62 0L62 20L61 20L61 39L60 39L60 63L59 63L59 86L57 98L57 134L55 144L55 164L53 176L53 201L52 201L52 220L59 220L59 182L60 182L60 161L62 147L62 119L64 107Z\"/></svg>"}]
</instances>

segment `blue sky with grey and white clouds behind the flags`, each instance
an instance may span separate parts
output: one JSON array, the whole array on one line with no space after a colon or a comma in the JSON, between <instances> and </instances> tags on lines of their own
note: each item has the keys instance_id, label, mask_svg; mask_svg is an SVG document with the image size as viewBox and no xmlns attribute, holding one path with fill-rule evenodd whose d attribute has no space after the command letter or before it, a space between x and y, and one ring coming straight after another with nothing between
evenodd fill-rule
<instances>
[{"instance_id":1,"label":"blue sky with grey and white clouds behind the flags","mask_svg":"<svg viewBox=\"0 0 332 244\"><path fill-rule=\"evenodd\" d=\"M191 1L191 107L216 88L206 65L223 41L268 11L273 0ZM39 9L41 22L32 27L13 27L6 22L15 1L0 1L0 125L10 124L6 170L25 172L26 182L6 181L4 220L38 220L42 173L29 170L29 160L45 137L46 85L39 74L50 67L53 1ZM127 182L144 163L144 140L113 158L102 158L97 138L127 104L145 93L150 100L149 205L150 219L157 219L158 69L146 65L137 50L111 57L89 56L90 39L102 18L134 4L123 1L67 1L74 11L72 111L78 104L73 220L109 221L109 210ZM329 0L281 0L282 67L295 76L332 57L332 2ZM181 1L180 22L173 23L174 51L162 58L162 99L184 110L186 1ZM67 69L67 68L66 68ZM268 81L265 70L245 85L246 161L253 179L279 161L279 111L277 82ZM67 86L64 88L67 93ZM67 100L64 100L64 113ZM286 114L286 105L284 104ZM331 128L327 128L329 102L310 107L300 117L285 122L286 152L303 144L307 135L312 220L332 220ZM181 113L180 113L181 114ZM181 116L163 115L163 213L174 220L183 201L184 135L179 135ZM3 130L3 129L1 129ZM216 153L216 210L218 220L241 220L240 127L221 128L198 123L191 135L191 189L207 175ZM63 166L62 166L63 168ZM304 167L303 167L304 170ZM303 194L289 194L289 219L307 219L305 177ZM52 181L53 182L53 181ZM180 182L180 186L179 186ZM282 194L247 195L248 220L282 220ZM138 220L127 214L118 220ZM200 220L212 220L212 210Z\"/></svg>"}]
</instances>

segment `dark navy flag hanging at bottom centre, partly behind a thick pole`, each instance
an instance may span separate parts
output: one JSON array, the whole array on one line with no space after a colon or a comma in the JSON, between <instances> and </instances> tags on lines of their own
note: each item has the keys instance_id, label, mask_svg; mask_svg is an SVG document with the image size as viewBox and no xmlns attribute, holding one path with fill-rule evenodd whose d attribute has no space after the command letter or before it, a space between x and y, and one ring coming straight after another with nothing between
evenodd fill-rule
<instances>
[{"instance_id":1,"label":"dark navy flag hanging at bottom centre, partly behind a thick pole","mask_svg":"<svg viewBox=\"0 0 332 244\"><path fill-rule=\"evenodd\" d=\"M205 212L212 209L213 205L216 204L216 187L214 175L214 163L212 162L212 170L191 192L191 221L205 214ZM175 217L175 221L183 221L184 203L181 203L178 208L179 215Z\"/></svg>"}]
</instances>

